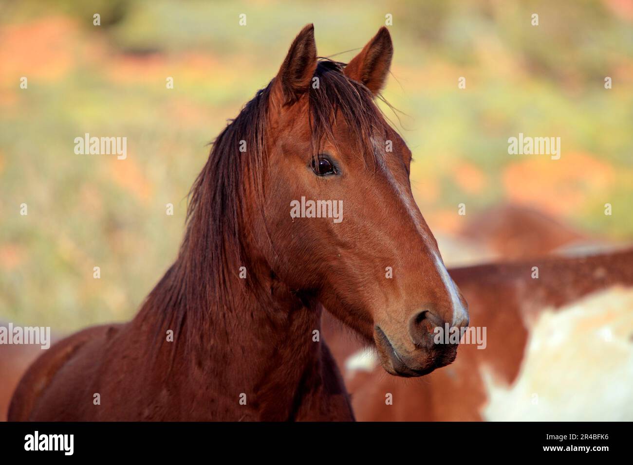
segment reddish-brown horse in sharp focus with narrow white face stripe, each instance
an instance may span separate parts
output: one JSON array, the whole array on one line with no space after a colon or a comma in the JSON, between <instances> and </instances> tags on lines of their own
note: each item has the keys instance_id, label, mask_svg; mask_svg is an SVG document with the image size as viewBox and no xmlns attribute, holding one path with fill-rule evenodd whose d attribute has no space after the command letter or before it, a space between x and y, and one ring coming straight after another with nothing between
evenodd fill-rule
<instances>
[{"instance_id":1,"label":"reddish-brown horse in sharp focus with narrow white face stripe","mask_svg":"<svg viewBox=\"0 0 633 465\"><path fill-rule=\"evenodd\" d=\"M374 101L392 54L383 27L348 65L320 59L304 27L215 140L178 257L139 313L47 350L9 420L353 420L323 306L393 375L453 362L432 330L467 326L467 303ZM302 197L342 201L343 220L291 216Z\"/></svg>"}]
</instances>

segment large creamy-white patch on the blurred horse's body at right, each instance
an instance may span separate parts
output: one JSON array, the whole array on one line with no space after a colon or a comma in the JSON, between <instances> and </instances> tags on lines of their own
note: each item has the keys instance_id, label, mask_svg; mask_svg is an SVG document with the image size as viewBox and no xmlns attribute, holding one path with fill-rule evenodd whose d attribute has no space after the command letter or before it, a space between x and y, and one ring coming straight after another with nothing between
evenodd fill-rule
<instances>
[{"instance_id":1,"label":"large creamy-white patch on the blurred horse's body at right","mask_svg":"<svg viewBox=\"0 0 633 465\"><path fill-rule=\"evenodd\" d=\"M516 380L482 369L492 421L633 420L633 288L613 287L543 311Z\"/></svg>"}]
</instances>

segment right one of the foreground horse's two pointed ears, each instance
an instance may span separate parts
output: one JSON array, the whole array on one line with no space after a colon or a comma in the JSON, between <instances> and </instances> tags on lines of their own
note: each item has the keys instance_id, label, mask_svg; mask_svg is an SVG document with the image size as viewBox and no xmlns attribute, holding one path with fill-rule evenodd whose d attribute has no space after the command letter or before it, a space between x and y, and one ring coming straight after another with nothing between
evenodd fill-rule
<instances>
[{"instance_id":1,"label":"right one of the foreground horse's two pointed ears","mask_svg":"<svg viewBox=\"0 0 633 465\"><path fill-rule=\"evenodd\" d=\"M367 42L363 50L354 56L345 67L345 74L358 82L365 84L373 95L378 94L385 85L394 46L391 35L386 27L381 27L373 39Z\"/></svg>"}]
</instances>

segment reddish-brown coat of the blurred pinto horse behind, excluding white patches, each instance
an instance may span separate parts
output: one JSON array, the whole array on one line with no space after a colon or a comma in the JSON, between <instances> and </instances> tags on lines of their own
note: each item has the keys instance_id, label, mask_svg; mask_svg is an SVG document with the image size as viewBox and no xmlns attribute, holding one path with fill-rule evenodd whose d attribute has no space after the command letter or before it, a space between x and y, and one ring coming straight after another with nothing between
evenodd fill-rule
<instances>
[{"instance_id":1,"label":"reddish-brown coat of the blurred pinto horse behind, excluding white patches","mask_svg":"<svg viewBox=\"0 0 633 465\"><path fill-rule=\"evenodd\" d=\"M534 266L539 269L537 279L532 278ZM359 420L482 420L482 409L490 400L484 372L491 373L502 385L517 380L532 325L544 309L557 311L611 287L633 288L633 249L585 257L539 257L449 271L468 299L473 326L487 328L486 349L463 344L454 364L415 382L385 376L371 367L369 371L346 373L346 386ZM607 323L595 321L595 327ZM346 359L362 347L327 317L323 335L332 342L339 366L345 366ZM391 405L385 404L385 393L392 394Z\"/></svg>"}]
</instances>

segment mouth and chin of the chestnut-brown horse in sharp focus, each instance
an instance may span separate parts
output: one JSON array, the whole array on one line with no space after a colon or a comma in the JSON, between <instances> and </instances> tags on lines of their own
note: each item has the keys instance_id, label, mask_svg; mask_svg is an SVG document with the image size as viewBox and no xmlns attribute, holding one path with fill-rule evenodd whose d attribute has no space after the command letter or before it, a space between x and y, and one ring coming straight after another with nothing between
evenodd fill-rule
<instances>
[{"instance_id":1,"label":"mouth and chin of the chestnut-brown horse in sharp focus","mask_svg":"<svg viewBox=\"0 0 633 465\"><path fill-rule=\"evenodd\" d=\"M403 378L413 378L416 376L428 375L434 369L441 368L442 366L452 363L456 356L456 351L452 354L446 354L438 356L436 354L427 353L425 363L423 365L415 366L411 365L407 357L398 353L398 350L391 344L391 341L387 335L380 329L380 326L375 327L375 342L380 359L382 361L382 367L387 373L394 376L402 376ZM407 363L408 362L408 363Z\"/></svg>"}]
</instances>

